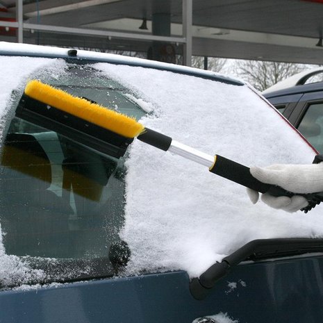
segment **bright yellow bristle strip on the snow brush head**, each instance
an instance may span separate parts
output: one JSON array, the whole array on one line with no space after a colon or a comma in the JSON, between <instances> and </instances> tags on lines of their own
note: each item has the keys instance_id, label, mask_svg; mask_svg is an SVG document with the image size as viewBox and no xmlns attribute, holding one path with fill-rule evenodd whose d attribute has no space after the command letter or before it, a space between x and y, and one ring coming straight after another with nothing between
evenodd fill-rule
<instances>
[{"instance_id":1,"label":"bright yellow bristle strip on the snow brush head","mask_svg":"<svg viewBox=\"0 0 323 323\"><path fill-rule=\"evenodd\" d=\"M97 103L74 97L37 80L28 82L24 92L28 97L127 138L134 138L144 131L144 126L132 117L109 110Z\"/></svg>"}]
</instances>

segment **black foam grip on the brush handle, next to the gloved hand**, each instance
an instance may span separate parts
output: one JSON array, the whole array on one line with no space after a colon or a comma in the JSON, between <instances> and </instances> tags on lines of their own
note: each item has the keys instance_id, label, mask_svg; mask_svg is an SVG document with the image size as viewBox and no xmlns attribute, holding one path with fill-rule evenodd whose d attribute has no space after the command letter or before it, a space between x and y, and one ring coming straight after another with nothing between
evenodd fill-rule
<instances>
[{"instance_id":1,"label":"black foam grip on the brush handle, next to the gloved hand","mask_svg":"<svg viewBox=\"0 0 323 323\"><path fill-rule=\"evenodd\" d=\"M262 183L258 181L258 179L255 179L254 176L250 174L249 167L235 163L235 161L220 155L216 155L215 158L214 165L210 167L210 172L213 174L222 176L225 179L229 179L230 181L260 193L265 193L272 187L272 185Z\"/></svg>"}]
</instances>

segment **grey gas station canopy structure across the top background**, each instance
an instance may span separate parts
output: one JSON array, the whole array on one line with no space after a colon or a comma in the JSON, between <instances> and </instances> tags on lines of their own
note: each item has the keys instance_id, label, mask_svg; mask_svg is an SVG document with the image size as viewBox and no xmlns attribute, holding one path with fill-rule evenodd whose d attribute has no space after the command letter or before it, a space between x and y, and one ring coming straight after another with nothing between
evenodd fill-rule
<instances>
[{"instance_id":1,"label":"grey gas station canopy structure across the top background","mask_svg":"<svg viewBox=\"0 0 323 323\"><path fill-rule=\"evenodd\" d=\"M322 17L321 0L0 0L0 40L186 65L192 55L322 64Z\"/></svg>"}]
</instances>

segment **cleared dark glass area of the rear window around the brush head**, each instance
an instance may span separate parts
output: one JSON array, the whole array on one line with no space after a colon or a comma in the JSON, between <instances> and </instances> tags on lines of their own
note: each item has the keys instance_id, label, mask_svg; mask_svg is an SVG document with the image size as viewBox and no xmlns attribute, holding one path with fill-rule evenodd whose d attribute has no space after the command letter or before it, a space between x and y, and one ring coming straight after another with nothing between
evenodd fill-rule
<instances>
[{"instance_id":1,"label":"cleared dark glass area of the rear window around the brush head","mask_svg":"<svg viewBox=\"0 0 323 323\"><path fill-rule=\"evenodd\" d=\"M129 90L89 66L66 65L59 74L42 69L35 78L137 119L145 114L129 99L135 98ZM14 93L13 108L17 101ZM124 222L124 158L99 154L18 117L3 144L6 253L44 270L44 281L115 274L118 260L111 253L122 258L128 252L118 235Z\"/></svg>"}]
</instances>

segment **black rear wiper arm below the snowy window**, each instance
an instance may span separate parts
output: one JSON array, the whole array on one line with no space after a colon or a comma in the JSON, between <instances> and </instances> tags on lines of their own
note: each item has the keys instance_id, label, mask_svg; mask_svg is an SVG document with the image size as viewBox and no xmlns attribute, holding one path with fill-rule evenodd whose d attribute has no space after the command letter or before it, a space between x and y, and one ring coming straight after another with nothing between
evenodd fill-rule
<instances>
[{"instance_id":1,"label":"black rear wiper arm below the snowy window","mask_svg":"<svg viewBox=\"0 0 323 323\"><path fill-rule=\"evenodd\" d=\"M323 252L323 239L278 238L253 240L229 256L224 257L221 263L212 265L199 278L192 279L190 292L195 299L204 299L215 283L228 274L231 267L245 260L295 256L313 252Z\"/></svg>"}]
</instances>

